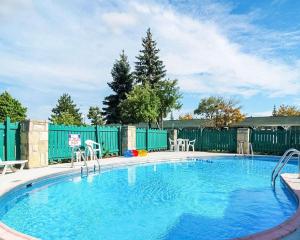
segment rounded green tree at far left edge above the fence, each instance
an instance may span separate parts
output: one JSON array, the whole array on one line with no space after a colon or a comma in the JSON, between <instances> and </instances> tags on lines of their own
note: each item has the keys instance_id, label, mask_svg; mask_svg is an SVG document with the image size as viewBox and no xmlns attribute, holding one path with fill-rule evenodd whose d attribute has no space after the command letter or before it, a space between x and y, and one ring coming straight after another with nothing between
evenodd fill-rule
<instances>
[{"instance_id":1,"label":"rounded green tree at far left edge above the fence","mask_svg":"<svg viewBox=\"0 0 300 240\"><path fill-rule=\"evenodd\" d=\"M27 108L8 92L3 92L0 95L0 122L3 122L6 117L10 117L12 122L25 120Z\"/></svg>"}]
</instances>

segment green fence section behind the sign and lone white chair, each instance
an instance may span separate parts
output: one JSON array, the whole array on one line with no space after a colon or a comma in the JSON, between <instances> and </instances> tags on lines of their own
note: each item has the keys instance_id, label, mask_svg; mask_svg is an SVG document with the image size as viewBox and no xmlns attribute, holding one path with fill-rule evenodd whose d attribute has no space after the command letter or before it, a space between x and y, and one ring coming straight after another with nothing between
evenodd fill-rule
<instances>
[{"instance_id":1,"label":"green fence section behind the sign and lone white chair","mask_svg":"<svg viewBox=\"0 0 300 240\"><path fill-rule=\"evenodd\" d=\"M93 140L102 145L102 152L119 154L120 128L103 126L65 126L49 124L49 161L70 159L71 148L68 145L69 134L80 134L81 144Z\"/></svg>"}]
</instances>

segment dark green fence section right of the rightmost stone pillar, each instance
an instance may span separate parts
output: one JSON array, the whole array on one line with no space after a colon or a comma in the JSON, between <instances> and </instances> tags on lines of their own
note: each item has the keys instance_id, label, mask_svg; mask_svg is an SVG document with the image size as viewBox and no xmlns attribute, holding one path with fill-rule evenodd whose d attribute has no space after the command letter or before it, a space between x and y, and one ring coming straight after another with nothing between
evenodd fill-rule
<instances>
[{"instance_id":1,"label":"dark green fence section right of the rightmost stone pillar","mask_svg":"<svg viewBox=\"0 0 300 240\"><path fill-rule=\"evenodd\" d=\"M251 143L255 153L282 155L289 148L300 149L300 130L255 129L251 131Z\"/></svg>"}]
</instances>

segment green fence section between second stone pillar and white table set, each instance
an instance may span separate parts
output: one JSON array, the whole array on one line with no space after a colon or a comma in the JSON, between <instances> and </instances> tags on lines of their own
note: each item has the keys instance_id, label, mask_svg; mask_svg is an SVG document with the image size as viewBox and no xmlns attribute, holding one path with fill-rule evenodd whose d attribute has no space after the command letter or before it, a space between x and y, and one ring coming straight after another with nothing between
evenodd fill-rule
<instances>
[{"instance_id":1,"label":"green fence section between second stone pillar and white table set","mask_svg":"<svg viewBox=\"0 0 300 240\"><path fill-rule=\"evenodd\" d=\"M136 129L136 149L148 151L166 150L168 148L168 132L159 129Z\"/></svg>"}]
</instances>

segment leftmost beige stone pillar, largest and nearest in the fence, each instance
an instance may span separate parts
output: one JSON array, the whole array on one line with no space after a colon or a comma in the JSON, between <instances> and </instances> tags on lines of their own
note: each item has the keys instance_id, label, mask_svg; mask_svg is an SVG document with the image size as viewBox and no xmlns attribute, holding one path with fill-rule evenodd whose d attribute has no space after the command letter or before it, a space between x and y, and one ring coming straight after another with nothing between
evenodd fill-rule
<instances>
[{"instance_id":1,"label":"leftmost beige stone pillar, largest and nearest in the fence","mask_svg":"<svg viewBox=\"0 0 300 240\"><path fill-rule=\"evenodd\" d=\"M21 159L28 160L27 168L48 166L48 122L21 122Z\"/></svg>"}]
</instances>

